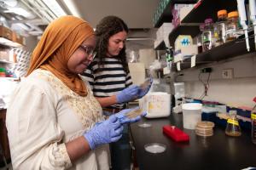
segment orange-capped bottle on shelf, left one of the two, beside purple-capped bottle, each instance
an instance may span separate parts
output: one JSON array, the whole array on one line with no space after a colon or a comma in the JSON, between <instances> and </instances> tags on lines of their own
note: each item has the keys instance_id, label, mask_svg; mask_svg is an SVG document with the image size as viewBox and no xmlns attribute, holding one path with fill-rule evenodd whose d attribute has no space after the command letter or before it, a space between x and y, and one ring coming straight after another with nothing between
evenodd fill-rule
<instances>
[{"instance_id":1,"label":"orange-capped bottle on shelf, left one of the two, beside purple-capped bottle","mask_svg":"<svg viewBox=\"0 0 256 170\"><path fill-rule=\"evenodd\" d=\"M215 46L219 46L224 44L226 41L226 24L228 19L227 10L219 10L218 13L218 21L215 25L214 29L214 37L216 38Z\"/></svg>"}]
</instances>

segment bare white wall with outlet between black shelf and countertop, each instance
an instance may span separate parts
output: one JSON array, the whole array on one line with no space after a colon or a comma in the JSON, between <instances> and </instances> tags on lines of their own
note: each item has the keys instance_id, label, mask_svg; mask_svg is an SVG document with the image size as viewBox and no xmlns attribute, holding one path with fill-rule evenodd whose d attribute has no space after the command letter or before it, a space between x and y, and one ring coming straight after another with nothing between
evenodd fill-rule
<instances>
[{"instance_id":1,"label":"bare white wall with outlet between black shelf and countertop","mask_svg":"<svg viewBox=\"0 0 256 170\"><path fill-rule=\"evenodd\" d=\"M203 94L204 87L198 76L200 68L204 67L212 67L210 87L205 100L218 101L227 105L253 107L252 100L256 96L256 53L181 71L183 76L177 77L177 82L185 82L187 97L199 99ZM222 77L223 69L233 69L234 77L224 79ZM208 73L201 74L203 82L207 82L207 76Z\"/></svg>"}]
</instances>

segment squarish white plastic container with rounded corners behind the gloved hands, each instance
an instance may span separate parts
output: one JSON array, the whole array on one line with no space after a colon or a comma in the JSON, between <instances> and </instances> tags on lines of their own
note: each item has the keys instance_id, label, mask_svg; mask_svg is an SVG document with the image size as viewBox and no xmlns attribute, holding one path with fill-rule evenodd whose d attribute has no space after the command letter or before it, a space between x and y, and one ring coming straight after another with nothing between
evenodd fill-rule
<instances>
[{"instance_id":1,"label":"squarish white plastic container with rounded corners behind the gloved hands","mask_svg":"<svg viewBox=\"0 0 256 170\"><path fill-rule=\"evenodd\" d=\"M147 118L166 117L171 114L171 95L163 92L149 93L139 100Z\"/></svg>"}]
</instances>

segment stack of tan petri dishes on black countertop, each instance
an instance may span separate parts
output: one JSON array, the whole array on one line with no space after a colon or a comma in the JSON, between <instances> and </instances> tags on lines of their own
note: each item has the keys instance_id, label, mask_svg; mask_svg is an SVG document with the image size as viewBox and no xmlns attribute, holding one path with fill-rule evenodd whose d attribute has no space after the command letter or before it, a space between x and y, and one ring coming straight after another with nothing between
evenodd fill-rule
<instances>
[{"instance_id":1,"label":"stack of tan petri dishes on black countertop","mask_svg":"<svg viewBox=\"0 0 256 170\"><path fill-rule=\"evenodd\" d=\"M213 128L214 123L213 122L197 122L195 127L195 133L199 136L208 137L213 135Z\"/></svg>"}]
</instances>

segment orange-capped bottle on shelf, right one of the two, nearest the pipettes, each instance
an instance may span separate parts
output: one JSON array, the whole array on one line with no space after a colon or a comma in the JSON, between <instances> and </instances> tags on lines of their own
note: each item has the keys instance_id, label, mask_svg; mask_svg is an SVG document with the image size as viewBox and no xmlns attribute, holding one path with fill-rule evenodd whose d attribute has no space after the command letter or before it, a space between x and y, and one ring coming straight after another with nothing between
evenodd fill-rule
<instances>
[{"instance_id":1,"label":"orange-capped bottle on shelf, right one of the two, nearest the pipettes","mask_svg":"<svg viewBox=\"0 0 256 170\"><path fill-rule=\"evenodd\" d=\"M226 26L226 42L230 42L236 39L236 31L239 29L239 16L237 11L232 11L228 14L227 26Z\"/></svg>"}]
</instances>

